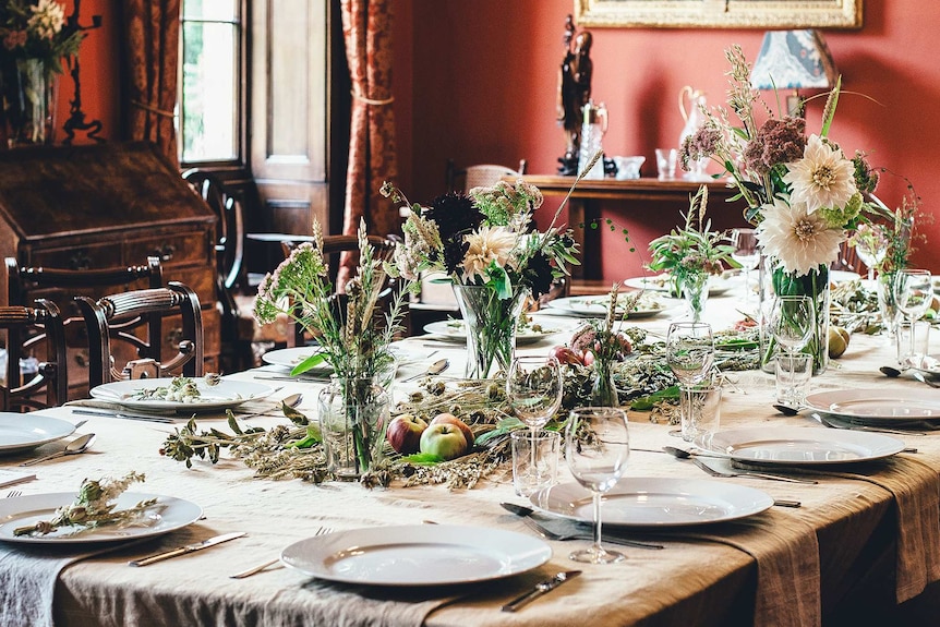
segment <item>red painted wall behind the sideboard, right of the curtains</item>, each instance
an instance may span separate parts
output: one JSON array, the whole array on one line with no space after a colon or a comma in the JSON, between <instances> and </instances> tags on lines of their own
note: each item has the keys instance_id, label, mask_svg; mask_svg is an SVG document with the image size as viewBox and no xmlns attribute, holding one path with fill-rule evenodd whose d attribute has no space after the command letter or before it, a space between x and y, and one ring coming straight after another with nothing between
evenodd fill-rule
<instances>
[{"instance_id":1,"label":"red painted wall behind the sideboard, right of the curtains","mask_svg":"<svg viewBox=\"0 0 940 627\"><path fill-rule=\"evenodd\" d=\"M932 212L940 200L935 155L940 145L937 26L940 2L864 0L860 31L825 32L843 75L844 95L831 136L847 152L871 153L872 165L911 179ZM430 201L444 185L447 158L458 164L529 161L532 173L554 172L564 150L555 122L562 35L573 0L399 0L396 2L396 114L401 183L412 201ZM410 17L410 20L409 20ZM724 100L724 49L739 44L754 60L762 31L592 28L592 94L606 104L608 155L644 155L678 141L683 86L703 89L709 104ZM407 103L407 106L403 106ZM807 114L818 130L821 99ZM900 203L903 180L885 176L878 194ZM605 212L646 234L623 207ZM676 214L676 219L678 215ZM940 222L926 225L940 241ZM606 244L605 244L606 246ZM616 249L612 245L611 249ZM606 249L604 277L620 258ZM914 263L940 270L940 250L921 245Z\"/></svg>"}]
</instances>

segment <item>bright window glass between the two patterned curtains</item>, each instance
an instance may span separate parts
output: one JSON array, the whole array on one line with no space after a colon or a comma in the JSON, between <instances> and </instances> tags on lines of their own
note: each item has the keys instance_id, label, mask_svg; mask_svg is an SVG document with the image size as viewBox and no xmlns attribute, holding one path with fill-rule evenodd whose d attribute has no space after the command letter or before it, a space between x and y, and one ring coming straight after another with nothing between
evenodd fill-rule
<instances>
[{"instance_id":1,"label":"bright window glass between the two patterned curtains","mask_svg":"<svg viewBox=\"0 0 940 627\"><path fill-rule=\"evenodd\" d=\"M183 0L177 130L186 165L241 161L239 0Z\"/></svg>"}]
</instances>

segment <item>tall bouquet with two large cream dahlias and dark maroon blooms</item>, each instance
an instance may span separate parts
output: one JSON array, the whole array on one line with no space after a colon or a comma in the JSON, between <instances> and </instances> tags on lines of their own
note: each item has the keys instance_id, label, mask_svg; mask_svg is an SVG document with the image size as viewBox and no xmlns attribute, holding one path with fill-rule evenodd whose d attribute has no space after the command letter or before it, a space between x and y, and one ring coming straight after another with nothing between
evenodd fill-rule
<instances>
[{"instance_id":1,"label":"tall bouquet with two large cream dahlias and dark maroon blooms","mask_svg":"<svg viewBox=\"0 0 940 627\"><path fill-rule=\"evenodd\" d=\"M865 153L848 157L829 137L841 81L828 95L819 130L807 135L805 119L776 117L760 100L740 47L725 57L731 64L727 105L737 122L724 108L706 111L706 123L683 144L683 167L710 157L724 168L770 260L773 291L812 299L817 323L805 350L814 354L818 374L828 363L829 265L858 225L872 217L893 222L894 216L870 196L878 174ZM761 124L758 105L768 112Z\"/></svg>"}]
</instances>

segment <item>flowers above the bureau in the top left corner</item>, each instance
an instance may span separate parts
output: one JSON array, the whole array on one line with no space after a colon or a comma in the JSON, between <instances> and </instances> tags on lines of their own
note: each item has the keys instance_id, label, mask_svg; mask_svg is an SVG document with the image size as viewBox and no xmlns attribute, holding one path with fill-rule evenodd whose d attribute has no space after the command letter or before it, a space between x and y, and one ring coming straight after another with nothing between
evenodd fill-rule
<instances>
[{"instance_id":1,"label":"flowers above the bureau in the top left corner","mask_svg":"<svg viewBox=\"0 0 940 627\"><path fill-rule=\"evenodd\" d=\"M65 9L56 0L8 0L0 7L0 57L39 59L62 73L62 58L79 53L84 33L67 29Z\"/></svg>"}]
</instances>

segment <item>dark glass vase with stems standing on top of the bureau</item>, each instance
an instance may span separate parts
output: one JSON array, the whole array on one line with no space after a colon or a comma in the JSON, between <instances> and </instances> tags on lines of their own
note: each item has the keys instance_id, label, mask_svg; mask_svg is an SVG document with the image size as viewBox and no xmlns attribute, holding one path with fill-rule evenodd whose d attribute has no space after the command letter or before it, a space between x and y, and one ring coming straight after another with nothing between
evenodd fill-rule
<instances>
[{"instance_id":1,"label":"dark glass vase with stems standing on top of the bureau","mask_svg":"<svg viewBox=\"0 0 940 627\"><path fill-rule=\"evenodd\" d=\"M55 140L58 75L41 59L16 59L4 91L7 143L11 148Z\"/></svg>"}]
</instances>

